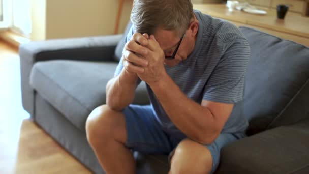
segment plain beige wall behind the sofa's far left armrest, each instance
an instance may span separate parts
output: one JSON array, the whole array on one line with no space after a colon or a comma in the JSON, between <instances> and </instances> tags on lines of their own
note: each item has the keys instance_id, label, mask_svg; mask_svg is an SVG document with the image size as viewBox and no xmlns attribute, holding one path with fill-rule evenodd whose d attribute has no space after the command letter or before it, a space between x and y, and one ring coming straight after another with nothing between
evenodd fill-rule
<instances>
[{"instance_id":1,"label":"plain beige wall behind the sofa's far left armrest","mask_svg":"<svg viewBox=\"0 0 309 174\"><path fill-rule=\"evenodd\" d=\"M129 18L126 1L119 33ZM118 0L32 0L32 40L110 35L114 32Z\"/></svg>"}]
</instances>

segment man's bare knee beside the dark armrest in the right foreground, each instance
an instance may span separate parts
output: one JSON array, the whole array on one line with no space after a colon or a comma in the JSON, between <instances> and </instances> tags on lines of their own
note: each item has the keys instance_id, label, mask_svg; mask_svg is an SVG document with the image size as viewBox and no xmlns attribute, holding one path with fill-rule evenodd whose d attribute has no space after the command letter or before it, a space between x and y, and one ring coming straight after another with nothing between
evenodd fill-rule
<instances>
[{"instance_id":1,"label":"man's bare knee beside the dark armrest in the right foreground","mask_svg":"<svg viewBox=\"0 0 309 174\"><path fill-rule=\"evenodd\" d=\"M181 141L171 159L169 173L209 173L212 156L208 148L189 139Z\"/></svg>"}]
</instances>

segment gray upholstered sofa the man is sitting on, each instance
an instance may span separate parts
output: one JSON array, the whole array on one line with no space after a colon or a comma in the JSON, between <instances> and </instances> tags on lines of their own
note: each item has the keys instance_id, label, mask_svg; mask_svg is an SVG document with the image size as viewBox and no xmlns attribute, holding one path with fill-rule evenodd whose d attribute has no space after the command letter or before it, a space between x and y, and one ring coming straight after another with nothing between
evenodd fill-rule
<instances>
[{"instance_id":1,"label":"gray upholstered sofa the man is sitting on","mask_svg":"<svg viewBox=\"0 0 309 174\"><path fill-rule=\"evenodd\" d=\"M217 173L309 173L309 48L240 27L251 46L244 112L248 137L222 149ZM126 30L127 31L127 30ZM105 103L125 35L20 46L22 104L31 118L95 173L104 173L85 121ZM147 104L145 84L134 103ZM167 173L166 155L134 152L137 173Z\"/></svg>"}]
</instances>

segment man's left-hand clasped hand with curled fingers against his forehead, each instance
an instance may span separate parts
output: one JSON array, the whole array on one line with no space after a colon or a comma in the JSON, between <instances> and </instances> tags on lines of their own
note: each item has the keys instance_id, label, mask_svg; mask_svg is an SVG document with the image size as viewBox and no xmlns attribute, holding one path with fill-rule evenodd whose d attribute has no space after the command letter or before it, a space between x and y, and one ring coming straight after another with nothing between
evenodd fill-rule
<instances>
[{"instance_id":1,"label":"man's left-hand clasped hand with curled fingers against his forehead","mask_svg":"<svg viewBox=\"0 0 309 174\"><path fill-rule=\"evenodd\" d=\"M149 41L148 34L134 33L130 41L125 45L123 49L123 68L126 73L135 75L138 73L144 73L144 68L148 66L148 61L144 58L148 54Z\"/></svg>"}]
</instances>

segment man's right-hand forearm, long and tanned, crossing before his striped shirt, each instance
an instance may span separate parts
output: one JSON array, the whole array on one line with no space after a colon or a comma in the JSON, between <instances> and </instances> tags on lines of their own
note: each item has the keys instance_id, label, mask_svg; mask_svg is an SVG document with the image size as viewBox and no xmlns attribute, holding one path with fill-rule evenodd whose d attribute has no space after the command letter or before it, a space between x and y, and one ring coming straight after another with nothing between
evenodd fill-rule
<instances>
[{"instance_id":1,"label":"man's right-hand forearm, long and tanned, crossing before his striped shirt","mask_svg":"<svg viewBox=\"0 0 309 174\"><path fill-rule=\"evenodd\" d=\"M211 143L218 130L210 110L188 98L167 75L156 84L149 84L175 126L189 138Z\"/></svg>"}]
</instances>

